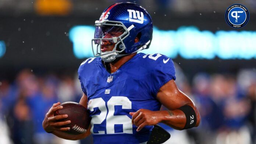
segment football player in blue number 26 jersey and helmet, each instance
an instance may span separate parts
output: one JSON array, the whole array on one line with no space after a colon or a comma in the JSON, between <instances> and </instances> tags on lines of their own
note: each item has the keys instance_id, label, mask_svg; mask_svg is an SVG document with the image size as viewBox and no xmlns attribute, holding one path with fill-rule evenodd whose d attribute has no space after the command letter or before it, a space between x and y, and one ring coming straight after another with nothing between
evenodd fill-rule
<instances>
[{"instance_id":1,"label":"football player in blue number 26 jersey and helmet","mask_svg":"<svg viewBox=\"0 0 256 144\"><path fill-rule=\"evenodd\" d=\"M53 116L62 108L54 104L43 127L58 137L79 140L93 135L95 144L147 143L157 123L174 129L196 127L199 112L193 101L175 84L173 61L163 54L137 53L152 42L149 13L135 3L116 3L95 22L92 50L95 57L78 69L83 96L79 104L89 110L90 130L78 136L62 131L67 115ZM168 111L159 111L161 105Z\"/></svg>"}]
</instances>

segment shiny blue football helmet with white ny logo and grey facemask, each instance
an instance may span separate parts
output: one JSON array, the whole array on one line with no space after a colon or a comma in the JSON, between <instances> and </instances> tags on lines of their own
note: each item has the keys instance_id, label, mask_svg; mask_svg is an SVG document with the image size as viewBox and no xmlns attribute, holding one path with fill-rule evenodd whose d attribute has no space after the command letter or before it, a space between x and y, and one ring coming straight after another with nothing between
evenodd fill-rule
<instances>
[{"instance_id":1,"label":"shiny blue football helmet with white ny logo and grey facemask","mask_svg":"<svg viewBox=\"0 0 256 144\"><path fill-rule=\"evenodd\" d=\"M95 21L95 35L92 51L104 62L117 57L147 49L152 41L153 24L145 8L135 3L115 3L103 11L99 21ZM139 42L135 43L135 38ZM114 44L112 51L102 51L106 44Z\"/></svg>"}]
</instances>

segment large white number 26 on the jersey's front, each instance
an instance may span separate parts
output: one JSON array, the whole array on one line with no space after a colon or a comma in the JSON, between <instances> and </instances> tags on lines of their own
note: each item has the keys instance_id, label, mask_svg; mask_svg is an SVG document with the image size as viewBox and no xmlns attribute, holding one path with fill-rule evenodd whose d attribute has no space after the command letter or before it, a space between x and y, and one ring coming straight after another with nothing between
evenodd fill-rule
<instances>
[{"instance_id":1,"label":"large white number 26 on the jersey's front","mask_svg":"<svg viewBox=\"0 0 256 144\"><path fill-rule=\"evenodd\" d=\"M131 109L132 102L123 96L113 96L106 102L102 98L95 98L88 102L88 109L93 111L93 108L99 108L100 115L93 115L91 124L91 133L93 134L105 134L104 131L98 131L98 133L93 132L93 127L95 124L101 124L106 119L106 132L107 134L114 134L114 125L115 124L122 124L123 125L123 132L122 133L129 133L132 134L132 120L127 115L116 115L114 116L115 112L115 105L121 105L122 109ZM107 108L109 112L107 114Z\"/></svg>"}]
</instances>

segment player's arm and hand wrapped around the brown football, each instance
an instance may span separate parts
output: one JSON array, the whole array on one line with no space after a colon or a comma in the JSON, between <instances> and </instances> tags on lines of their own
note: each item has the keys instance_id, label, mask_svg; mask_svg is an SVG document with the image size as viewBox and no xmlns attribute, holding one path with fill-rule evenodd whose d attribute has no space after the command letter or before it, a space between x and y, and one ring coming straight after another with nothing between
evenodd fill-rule
<instances>
[{"instance_id":1,"label":"player's arm and hand wrapped around the brown football","mask_svg":"<svg viewBox=\"0 0 256 144\"><path fill-rule=\"evenodd\" d=\"M79 104L83 105L83 107L87 108L87 96L83 94ZM90 135L90 128L89 126L88 130L86 133L79 134L79 135L71 135L68 133L65 133L64 131L70 130L69 127L61 127L63 125L67 125L70 123L70 120L67 120L65 122L56 122L56 120L59 119L65 119L67 116L65 115L57 115L54 116L54 112L57 111L58 109L61 109L62 106L60 106L60 102L53 104L49 112L45 115L45 119L43 120L43 128L45 129L46 132L51 132L57 137L64 138L67 140L80 140L82 138L85 138Z\"/></svg>"}]
</instances>

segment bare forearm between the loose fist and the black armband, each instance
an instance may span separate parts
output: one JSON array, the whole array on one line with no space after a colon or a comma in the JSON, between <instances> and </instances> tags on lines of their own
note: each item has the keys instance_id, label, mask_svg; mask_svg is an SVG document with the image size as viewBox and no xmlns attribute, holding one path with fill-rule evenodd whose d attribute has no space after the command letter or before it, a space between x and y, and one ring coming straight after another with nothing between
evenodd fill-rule
<instances>
[{"instance_id":1,"label":"bare forearm between the loose fist and the black armband","mask_svg":"<svg viewBox=\"0 0 256 144\"><path fill-rule=\"evenodd\" d=\"M177 130L182 130L186 125L186 116L179 109L174 111L159 111L161 113L161 122L173 127Z\"/></svg>"}]
</instances>

